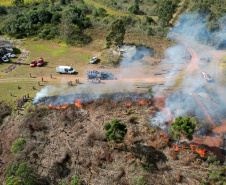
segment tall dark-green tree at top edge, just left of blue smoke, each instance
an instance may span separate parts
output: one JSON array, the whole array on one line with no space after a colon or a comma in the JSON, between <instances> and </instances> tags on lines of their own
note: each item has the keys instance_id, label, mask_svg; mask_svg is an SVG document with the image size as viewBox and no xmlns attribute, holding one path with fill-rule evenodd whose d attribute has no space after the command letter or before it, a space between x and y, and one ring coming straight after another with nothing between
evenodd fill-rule
<instances>
[{"instance_id":1,"label":"tall dark-green tree at top edge, just left of blue smoke","mask_svg":"<svg viewBox=\"0 0 226 185\"><path fill-rule=\"evenodd\" d=\"M177 4L173 0L158 0L157 12L161 27L166 27L176 12Z\"/></svg>"}]
</instances>

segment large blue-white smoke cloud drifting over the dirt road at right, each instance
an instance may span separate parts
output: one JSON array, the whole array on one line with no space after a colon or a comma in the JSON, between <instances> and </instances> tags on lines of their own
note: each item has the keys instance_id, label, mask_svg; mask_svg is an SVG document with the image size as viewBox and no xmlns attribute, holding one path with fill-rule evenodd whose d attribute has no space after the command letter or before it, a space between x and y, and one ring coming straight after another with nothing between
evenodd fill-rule
<instances>
[{"instance_id":1,"label":"large blue-white smoke cloud drifting over the dirt road at right","mask_svg":"<svg viewBox=\"0 0 226 185\"><path fill-rule=\"evenodd\" d=\"M165 86L176 85L177 93L168 95L165 107L170 109L174 118L192 115L204 119L208 114L215 125L221 125L221 119L226 119L226 96L222 94L226 92L226 87L222 83L223 77L216 50L225 47L223 46L226 41L225 20L226 16L219 19L221 29L210 32L203 16L184 14L177 26L168 33L168 37L177 45L166 50L161 65L172 64L167 75L171 80L166 81ZM213 77L211 82L201 77L203 71ZM174 80L175 75L177 80ZM158 86L155 92L163 93ZM166 130L166 124L163 122L168 121L166 119L168 116L164 115L163 119L162 113L157 113L152 125L160 125L162 130Z\"/></svg>"}]
</instances>

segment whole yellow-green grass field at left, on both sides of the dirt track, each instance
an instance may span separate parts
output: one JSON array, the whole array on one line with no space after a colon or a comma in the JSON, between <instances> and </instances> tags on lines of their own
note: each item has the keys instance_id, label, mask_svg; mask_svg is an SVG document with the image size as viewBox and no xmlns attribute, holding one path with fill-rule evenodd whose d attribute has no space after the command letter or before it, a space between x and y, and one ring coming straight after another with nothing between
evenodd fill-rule
<instances>
[{"instance_id":1,"label":"whole yellow-green grass field at left, on both sides of the dirt track","mask_svg":"<svg viewBox=\"0 0 226 185\"><path fill-rule=\"evenodd\" d=\"M95 54L95 51L83 48L75 47L62 47L57 43L51 41L31 41L27 40L24 45L26 49L30 51L28 60L20 67L16 68L8 74L0 73L0 99L5 102L14 103L17 98L21 98L24 94L29 93L31 97L35 97L36 93L46 85L61 85L66 82L56 82L54 80L48 81L45 79L50 78L50 74L53 78L63 79L65 75L56 73L57 65L70 65L72 66L77 76L84 76L85 69L89 67L89 59ZM45 66L43 67L30 67L31 60L38 60L39 57L43 57L45 60ZM13 59L15 60L15 59ZM1 63L0 71L8 68L12 63ZM31 73L32 78L30 78ZM44 82L41 82L41 78L44 78ZM65 77L68 77L65 76ZM38 86L38 81L41 86ZM21 87L18 90L18 85ZM32 87L36 90L33 90ZM10 91L13 96L10 96Z\"/></svg>"}]
</instances>

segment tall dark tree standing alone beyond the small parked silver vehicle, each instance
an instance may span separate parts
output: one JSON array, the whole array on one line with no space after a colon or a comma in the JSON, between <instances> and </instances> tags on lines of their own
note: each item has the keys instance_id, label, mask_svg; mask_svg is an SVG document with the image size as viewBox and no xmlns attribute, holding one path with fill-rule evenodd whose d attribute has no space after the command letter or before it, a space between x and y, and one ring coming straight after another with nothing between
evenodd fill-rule
<instances>
[{"instance_id":1,"label":"tall dark tree standing alone beyond the small parked silver vehicle","mask_svg":"<svg viewBox=\"0 0 226 185\"><path fill-rule=\"evenodd\" d=\"M106 46L110 47L112 40L116 44L122 44L126 33L125 25L122 19L117 19L111 24L111 30L106 36Z\"/></svg>"}]
</instances>

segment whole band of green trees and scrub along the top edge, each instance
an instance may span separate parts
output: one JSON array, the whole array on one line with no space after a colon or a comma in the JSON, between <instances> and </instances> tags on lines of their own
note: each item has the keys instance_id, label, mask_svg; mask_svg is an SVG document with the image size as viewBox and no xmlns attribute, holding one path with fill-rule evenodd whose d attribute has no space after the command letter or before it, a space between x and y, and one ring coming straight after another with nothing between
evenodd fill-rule
<instances>
[{"instance_id":1,"label":"whole band of green trees and scrub along the top edge","mask_svg":"<svg viewBox=\"0 0 226 185\"><path fill-rule=\"evenodd\" d=\"M43 0L30 5L24 5L23 0L14 0L14 6L0 6L0 21L4 23L1 33L17 39L38 37L59 39L73 45L87 44L92 38L85 34L85 29L110 30L112 22L119 17L123 20L127 33L165 36L176 12L199 13L201 17L198 18L206 23L205 26L210 31L220 29L222 24L218 20L226 13L224 0L191 0L180 9L178 7L181 0L98 2L112 9L123 6L126 14L107 14L106 9L95 8L85 4L83 0ZM152 11L148 11L150 8Z\"/></svg>"}]
</instances>

